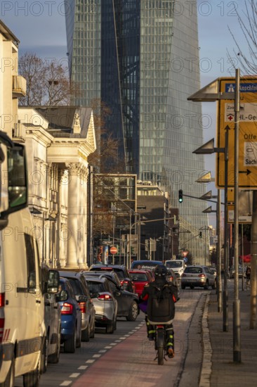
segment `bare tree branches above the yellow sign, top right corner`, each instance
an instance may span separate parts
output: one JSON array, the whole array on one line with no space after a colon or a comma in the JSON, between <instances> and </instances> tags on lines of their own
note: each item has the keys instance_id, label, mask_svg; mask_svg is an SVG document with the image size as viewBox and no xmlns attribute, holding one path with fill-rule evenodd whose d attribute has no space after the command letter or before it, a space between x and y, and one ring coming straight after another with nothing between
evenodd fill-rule
<instances>
[{"instance_id":1,"label":"bare tree branches above the yellow sign, top right corner","mask_svg":"<svg viewBox=\"0 0 257 387\"><path fill-rule=\"evenodd\" d=\"M241 65L241 70L245 75L256 75L257 72L257 4L254 0L244 0L244 11L242 11L242 15L239 15L239 11L237 12L237 19L239 23L239 28L241 29L245 43L243 47L241 47L237 41L237 37L235 36L235 32L233 32L230 27L228 30L235 42L235 49L233 52L235 53L235 57ZM235 59L232 58L231 54L228 52L228 57L230 58L230 62L234 67L237 66L235 63Z\"/></svg>"}]
</instances>

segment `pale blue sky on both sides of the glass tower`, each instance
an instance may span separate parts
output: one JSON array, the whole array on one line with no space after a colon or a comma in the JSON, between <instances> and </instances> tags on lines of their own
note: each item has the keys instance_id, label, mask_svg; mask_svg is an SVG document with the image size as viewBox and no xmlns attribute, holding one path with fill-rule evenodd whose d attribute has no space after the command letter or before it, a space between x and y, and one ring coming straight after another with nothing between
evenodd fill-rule
<instances>
[{"instance_id":1,"label":"pale blue sky on both sides of the glass tower","mask_svg":"<svg viewBox=\"0 0 257 387\"><path fill-rule=\"evenodd\" d=\"M227 51L235 58L236 67L237 56L233 54L235 43L228 26L235 33L239 46L246 46L237 20L237 12L242 15L245 9L244 1L179 0L176 1L178 14L187 12L185 4L197 7L201 87L218 77L234 77L235 70L228 61ZM20 40L19 55L29 51L46 60L61 61L62 65L67 65L64 1L1 0L0 6L1 20ZM216 137L216 103L202 103L202 113L211 116L211 125L208 129L204 128L206 142ZM205 167L214 177L215 155L205 156ZM215 189L213 184L210 187ZM213 195L216 195L215 191Z\"/></svg>"}]
</instances>

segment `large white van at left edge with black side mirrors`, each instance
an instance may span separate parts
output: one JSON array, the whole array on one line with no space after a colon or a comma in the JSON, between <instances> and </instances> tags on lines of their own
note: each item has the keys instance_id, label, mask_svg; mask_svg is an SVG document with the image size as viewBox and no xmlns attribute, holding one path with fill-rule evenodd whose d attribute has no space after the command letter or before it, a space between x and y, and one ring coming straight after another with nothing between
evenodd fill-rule
<instances>
[{"instance_id":1,"label":"large white van at left edge with black side mirrors","mask_svg":"<svg viewBox=\"0 0 257 387\"><path fill-rule=\"evenodd\" d=\"M23 386L37 387L46 342L44 293L58 292L59 277L54 270L51 284L41 279L32 217L25 208L25 149L13 144L3 152L1 132L0 143L0 384L13 387L15 376L23 375Z\"/></svg>"}]
</instances>

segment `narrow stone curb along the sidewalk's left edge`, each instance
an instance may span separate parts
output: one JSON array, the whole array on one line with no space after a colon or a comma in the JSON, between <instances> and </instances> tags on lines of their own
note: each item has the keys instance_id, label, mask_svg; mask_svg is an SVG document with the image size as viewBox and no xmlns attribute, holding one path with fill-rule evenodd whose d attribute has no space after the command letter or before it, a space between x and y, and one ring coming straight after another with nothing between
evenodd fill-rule
<instances>
[{"instance_id":1,"label":"narrow stone curb along the sidewalk's left edge","mask_svg":"<svg viewBox=\"0 0 257 387\"><path fill-rule=\"evenodd\" d=\"M202 369L200 373L199 387L210 387L211 386L211 368L212 368L212 348L210 331L208 325L208 309L209 309L210 296L208 295L205 300L204 313L202 316Z\"/></svg>"}]
</instances>

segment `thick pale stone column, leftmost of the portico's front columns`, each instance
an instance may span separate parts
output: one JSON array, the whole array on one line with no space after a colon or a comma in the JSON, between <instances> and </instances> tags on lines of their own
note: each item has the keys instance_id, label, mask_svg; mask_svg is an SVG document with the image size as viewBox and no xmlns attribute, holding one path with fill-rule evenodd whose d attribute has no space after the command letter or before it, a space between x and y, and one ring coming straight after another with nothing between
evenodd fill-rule
<instances>
[{"instance_id":1,"label":"thick pale stone column, leftmost of the portico's front columns","mask_svg":"<svg viewBox=\"0 0 257 387\"><path fill-rule=\"evenodd\" d=\"M68 167L68 208L67 208L67 262L66 267L77 269L79 267L78 257L78 192L79 175L81 165L69 163Z\"/></svg>"}]
</instances>

